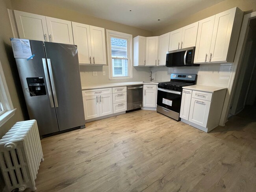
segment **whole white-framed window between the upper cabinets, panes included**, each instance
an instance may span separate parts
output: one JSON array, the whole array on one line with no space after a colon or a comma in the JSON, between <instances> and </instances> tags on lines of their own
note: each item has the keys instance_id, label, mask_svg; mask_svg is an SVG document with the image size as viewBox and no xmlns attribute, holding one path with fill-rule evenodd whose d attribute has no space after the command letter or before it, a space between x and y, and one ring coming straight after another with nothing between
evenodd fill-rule
<instances>
[{"instance_id":1,"label":"whole white-framed window between the upper cabinets, panes included","mask_svg":"<svg viewBox=\"0 0 256 192\"><path fill-rule=\"evenodd\" d=\"M109 79L132 78L132 35L107 30Z\"/></svg>"}]
</instances>

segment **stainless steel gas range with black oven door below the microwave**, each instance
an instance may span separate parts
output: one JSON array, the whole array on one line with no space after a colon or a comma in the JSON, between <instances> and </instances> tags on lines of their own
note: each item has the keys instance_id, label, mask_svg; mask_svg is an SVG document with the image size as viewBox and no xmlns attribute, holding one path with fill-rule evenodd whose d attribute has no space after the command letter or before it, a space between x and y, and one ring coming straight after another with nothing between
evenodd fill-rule
<instances>
[{"instance_id":1,"label":"stainless steel gas range with black oven door below the microwave","mask_svg":"<svg viewBox=\"0 0 256 192\"><path fill-rule=\"evenodd\" d=\"M156 111L180 121L182 87L196 82L197 74L171 74L171 81L158 84Z\"/></svg>"}]
</instances>

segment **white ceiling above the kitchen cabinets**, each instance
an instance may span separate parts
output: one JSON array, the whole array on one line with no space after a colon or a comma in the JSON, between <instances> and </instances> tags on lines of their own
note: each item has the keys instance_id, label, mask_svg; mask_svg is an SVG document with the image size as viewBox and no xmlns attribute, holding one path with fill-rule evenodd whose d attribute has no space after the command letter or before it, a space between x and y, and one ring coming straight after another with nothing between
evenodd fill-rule
<instances>
[{"instance_id":1,"label":"white ceiling above the kitchen cabinets","mask_svg":"<svg viewBox=\"0 0 256 192\"><path fill-rule=\"evenodd\" d=\"M85 15L155 31L223 0L41 0ZM132 10L132 11L130 11ZM160 19L160 21L158 21Z\"/></svg>"}]
</instances>

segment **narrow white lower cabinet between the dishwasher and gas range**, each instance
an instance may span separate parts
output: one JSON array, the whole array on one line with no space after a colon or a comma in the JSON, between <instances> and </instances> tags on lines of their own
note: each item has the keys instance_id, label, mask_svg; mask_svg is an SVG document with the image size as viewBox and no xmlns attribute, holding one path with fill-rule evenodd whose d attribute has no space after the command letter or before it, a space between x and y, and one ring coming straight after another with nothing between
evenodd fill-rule
<instances>
[{"instance_id":1,"label":"narrow white lower cabinet between the dishwasher and gas range","mask_svg":"<svg viewBox=\"0 0 256 192\"><path fill-rule=\"evenodd\" d=\"M156 85L143 85L143 107L156 108Z\"/></svg>"}]
</instances>

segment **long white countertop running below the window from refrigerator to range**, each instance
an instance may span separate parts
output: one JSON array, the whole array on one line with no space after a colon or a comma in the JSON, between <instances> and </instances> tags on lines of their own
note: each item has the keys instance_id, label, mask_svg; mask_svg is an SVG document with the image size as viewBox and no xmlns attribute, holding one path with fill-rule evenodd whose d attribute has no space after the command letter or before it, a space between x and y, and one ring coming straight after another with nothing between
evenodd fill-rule
<instances>
[{"instance_id":1,"label":"long white countertop running below the window from refrigerator to range","mask_svg":"<svg viewBox=\"0 0 256 192\"><path fill-rule=\"evenodd\" d=\"M87 89L100 89L100 88L106 88L106 87L121 87L121 86L128 86L128 85L157 85L158 82L152 81L152 82L143 82L143 81L135 81L135 82L122 82L122 83L106 83L106 84L96 84L96 85L82 85L82 90Z\"/></svg>"}]
</instances>

